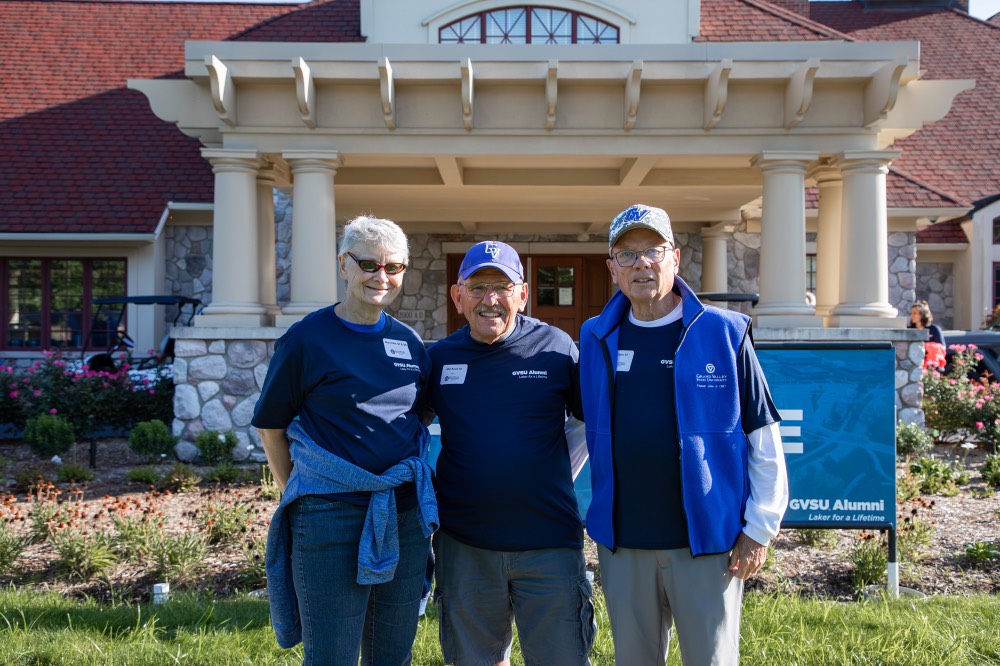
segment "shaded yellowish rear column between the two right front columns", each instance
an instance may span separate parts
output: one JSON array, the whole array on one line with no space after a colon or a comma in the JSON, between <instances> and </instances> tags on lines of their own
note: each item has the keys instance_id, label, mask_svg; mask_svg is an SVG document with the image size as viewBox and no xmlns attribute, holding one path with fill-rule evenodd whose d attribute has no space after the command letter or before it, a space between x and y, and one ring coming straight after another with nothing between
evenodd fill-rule
<instances>
[{"instance_id":1,"label":"shaded yellowish rear column between the two right front columns","mask_svg":"<svg viewBox=\"0 0 1000 666\"><path fill-rule=\"evenodd\" d=\"M828 315L840 302L840 227L844 181L837 169L816 174L819 224L816 233L816 314Z\"/></svg>"}]
</instances>

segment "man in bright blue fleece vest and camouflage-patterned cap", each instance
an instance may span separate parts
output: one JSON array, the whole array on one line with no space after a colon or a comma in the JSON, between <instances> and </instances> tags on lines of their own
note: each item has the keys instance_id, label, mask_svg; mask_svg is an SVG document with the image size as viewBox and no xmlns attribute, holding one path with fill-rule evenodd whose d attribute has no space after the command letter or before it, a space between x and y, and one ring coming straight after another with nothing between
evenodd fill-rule
<instances>
[{"instance_id":1,"label":"man in bright blue fleece vest and camouflage-patterned cap","mask_svg":"<svg viewBox=\"0 0 1000 666\"><path fill-rule=\"evenodd\" d=\"M665 211L622 211L608 247L619 291L580 332L580 385L615 662L663 666L676 624L686 666L736 664L788 501L778 412L749 318L677 276Z\"/></svg>"}]
</instances>

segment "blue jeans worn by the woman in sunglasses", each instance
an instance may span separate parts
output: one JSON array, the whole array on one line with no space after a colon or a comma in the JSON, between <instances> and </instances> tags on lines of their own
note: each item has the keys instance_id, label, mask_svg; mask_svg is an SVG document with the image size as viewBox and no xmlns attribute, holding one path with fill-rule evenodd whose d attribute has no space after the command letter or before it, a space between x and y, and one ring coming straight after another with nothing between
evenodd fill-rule
<instances>
[{"instance_id":1,"label":"blue jeans worn by the woman in sunglasses","mask_svg":"<svg viewBox=\"0 0 1000 666\"><path fill-rule=\"evenodd\" d=\"M407 666L427 566L417 509L400 512L393 579L358 585L365 507L306 496L289 508L292 576L302 618L303 664Z\"/></svg>"}]
</instances>

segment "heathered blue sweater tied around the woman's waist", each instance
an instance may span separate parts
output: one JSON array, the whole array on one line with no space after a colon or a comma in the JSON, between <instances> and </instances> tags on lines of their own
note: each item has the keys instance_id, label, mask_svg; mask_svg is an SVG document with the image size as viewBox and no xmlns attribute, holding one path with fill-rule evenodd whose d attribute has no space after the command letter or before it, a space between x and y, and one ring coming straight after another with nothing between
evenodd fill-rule
<instances>
[{"instance_id":1,"label":"heathered blue sweater tied around the woman's waist","mask_svg":"<svg viewBox=\"0 0 1000 666\"><path fill-rule=\"evenodd\" d=\"M286 509L304 495L370 492L358 547L358 584L376 585L392 580L399 563L399 527L393 489L412 481L417 491L417 515L425 537L438 528L437 500L427 464L430 436L421 426L420 457L411 456L384 474L367 472L347 462L306 434L298 419L285 432L294 465L267 533L267 592L271 624L278 644L290 648L302 642L302 622L292 579L292 534Z\"/></svg>"}]
</instances>

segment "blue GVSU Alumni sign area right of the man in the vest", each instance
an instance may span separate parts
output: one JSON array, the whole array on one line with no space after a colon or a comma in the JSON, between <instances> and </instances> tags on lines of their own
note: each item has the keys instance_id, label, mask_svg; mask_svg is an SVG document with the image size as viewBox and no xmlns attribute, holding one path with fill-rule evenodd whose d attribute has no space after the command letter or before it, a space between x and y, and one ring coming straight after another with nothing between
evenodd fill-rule
<instances>
[{"instance_id":1,"label":"blue GVSU Alumni sign area right of the man in the vest","mask_svg":"<svg viewBox=\"0 0 1000 666\"><path fill-rule=\"evenodd\" d=\"M896 524L891 346L757 345L788 466L787 526Z\"/></svg>"}]
</instances>

